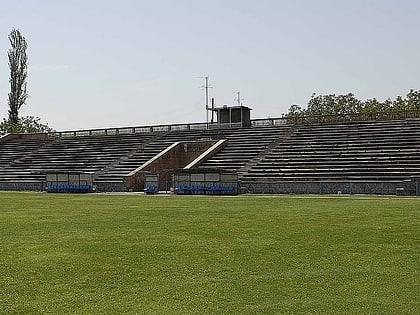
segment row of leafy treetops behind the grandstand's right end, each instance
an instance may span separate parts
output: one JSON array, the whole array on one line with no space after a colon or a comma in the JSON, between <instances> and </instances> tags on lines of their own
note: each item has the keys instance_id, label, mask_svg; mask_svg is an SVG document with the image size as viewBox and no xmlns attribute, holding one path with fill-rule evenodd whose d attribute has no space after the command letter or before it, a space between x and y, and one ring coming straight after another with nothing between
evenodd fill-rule
<instances>
[{"instance_id":1,"label":"row of leafy treetops behind the grandstand's right end","mask_svg":"<svg viewBox=\"0 0 420 315\"><path fill-rule=\"evenodd\" d=\"M351 120L386 120L420 117L420 90L410 90L405 97L361 101L352 93L345 95L313 94L304 109L292 105L285 115L289 123L333 122Z\"/></svg>"}]
</instances>

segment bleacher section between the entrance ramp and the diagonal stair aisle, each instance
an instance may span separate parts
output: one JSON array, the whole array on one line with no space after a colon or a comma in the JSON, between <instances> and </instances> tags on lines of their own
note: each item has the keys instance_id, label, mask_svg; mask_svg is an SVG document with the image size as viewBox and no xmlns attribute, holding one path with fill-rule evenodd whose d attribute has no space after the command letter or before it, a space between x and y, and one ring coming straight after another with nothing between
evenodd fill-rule
<instances>
[{"instance_id":1,"label":"bleacher section between the entrance ramp and the diagonal stair aisle","mask_svg":"<svg viewBox=\"0 0 420 315\"><path fill-rule=\"evenodd\" d=\"M226 136L227 146L200 167L237 171L289 129L290 126L284 125L232 130Z\"/></svg>"}]
</instances>

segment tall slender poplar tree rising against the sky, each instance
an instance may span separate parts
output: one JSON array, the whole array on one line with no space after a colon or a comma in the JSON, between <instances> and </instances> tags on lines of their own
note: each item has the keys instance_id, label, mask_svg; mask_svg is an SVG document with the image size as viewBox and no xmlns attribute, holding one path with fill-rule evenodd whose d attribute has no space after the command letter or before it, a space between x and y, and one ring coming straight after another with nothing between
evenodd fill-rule
<instances>
[{"instance_id":1,"label":"tall slender poplar tree rising against the sky","mask_svg":"<svg viewBox=\"0 0 420 315\"><path fill-rule=\"evenodd\" d=\"M12 125L19 123L19 110L26 103L28 93L26 78L28 76L28 45L25 37L19 30L13 29L9 35L12 48L7 52L10 67L10 93L9 93L9 122Z\"/></svg>"}]
</instances>

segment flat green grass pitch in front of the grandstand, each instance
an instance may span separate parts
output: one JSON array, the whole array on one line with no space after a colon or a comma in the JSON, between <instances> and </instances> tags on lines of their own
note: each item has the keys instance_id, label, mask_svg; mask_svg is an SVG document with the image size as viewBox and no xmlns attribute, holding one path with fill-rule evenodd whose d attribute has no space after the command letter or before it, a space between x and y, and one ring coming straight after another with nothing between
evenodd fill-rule
<instances>
[{"instance_id":1,"label":"flat green grass pitch in front of the grandstand","mask_svg":"<svg viewBox=\"0 0 420 315\"><path fill-rule=\"evenodd\" d=\"M1 314L419 314L420 199L0 193Z\"/></svg>"}]
</instances>

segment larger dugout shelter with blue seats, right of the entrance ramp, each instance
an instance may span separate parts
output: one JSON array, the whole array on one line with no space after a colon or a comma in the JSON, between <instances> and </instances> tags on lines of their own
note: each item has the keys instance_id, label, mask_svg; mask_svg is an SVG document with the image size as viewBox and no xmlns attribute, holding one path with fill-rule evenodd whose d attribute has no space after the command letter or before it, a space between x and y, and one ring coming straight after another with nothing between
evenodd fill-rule
<instances>
[{"instance_id":1,"label":"larger dugout shelter with blue seats, right of the entrance ramp","mask_svg":"<svg viewBox=\"0 0 420 315\"><path fill-rule=\"evenodd\" d=\"M238 175L219 169L181 169L173 174L175 194L236 195L239 193Z\"/></svg>"}]
</instances>

